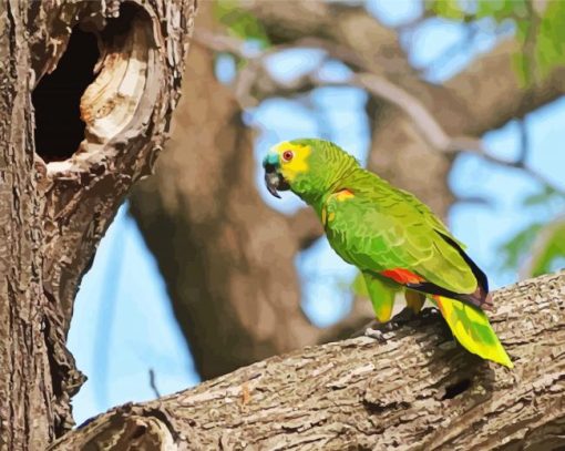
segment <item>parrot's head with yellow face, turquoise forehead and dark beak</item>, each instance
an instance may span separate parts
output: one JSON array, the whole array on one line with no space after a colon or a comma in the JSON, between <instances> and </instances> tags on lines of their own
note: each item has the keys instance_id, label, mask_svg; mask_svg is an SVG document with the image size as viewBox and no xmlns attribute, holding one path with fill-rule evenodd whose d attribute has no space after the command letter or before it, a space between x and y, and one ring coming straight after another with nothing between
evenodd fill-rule
<instances>
[{"instance_id":1,"label":"parrot's head with yellow face, turquoise forehead and dark beak","mask_svg":"<svg viewBox=\"0 0 565 451\"><path fill-rule=\"evenodd\" d=\"M284 141L273 146L265 158L265 184L275 197L291 189L308 203L321 198L359 163L338 145L323 140Z\"/></svg>"}]
</instances>

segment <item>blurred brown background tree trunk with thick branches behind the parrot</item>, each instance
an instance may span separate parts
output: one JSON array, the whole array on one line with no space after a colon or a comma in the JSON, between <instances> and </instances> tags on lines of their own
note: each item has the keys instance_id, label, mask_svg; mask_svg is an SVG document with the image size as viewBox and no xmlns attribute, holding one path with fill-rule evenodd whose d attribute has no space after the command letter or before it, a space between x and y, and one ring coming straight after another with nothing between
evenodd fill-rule
<instances>
[{"instance_id":1,"label":"blurred brown background tree trunk with thick branches behind the parrot","mask_svg":"<svg viewBox=\"0 0 565 451\"><path fill-rule=\"evenodd\" d=\"M413 94L453 136L480 136L565 92L563 70L541 86L522 90L512 66L513 42L502 43L444 85L427 83L410 66L397 32L363 7L290 4L243 2L274 45L308 47L305 40L310 40L319 47L321 41L353 70L384 76ZM209 16L197 27L223 32ZM343 337L368 320L370 312L363 309L370 305L356 301L349 321L327 331L304 319L295 257L319 236L319 224L309 209L285 221L265 207L256 193L251 132L242 123L242 110L216 81L212 52L198 47L191 58L187 76L197 76L198 86L186 86L171 148L131 205L160 264L196 367L207 379L305 344ZM249 95L261 100L291 95L289 91L258 80ZM403 112L377 96L370 96L367 112L370 168L445 217L453 202L446 182L453 155L433 148ZM222 183L226 180L229 189Z\"/></svg>"}]
</instances>

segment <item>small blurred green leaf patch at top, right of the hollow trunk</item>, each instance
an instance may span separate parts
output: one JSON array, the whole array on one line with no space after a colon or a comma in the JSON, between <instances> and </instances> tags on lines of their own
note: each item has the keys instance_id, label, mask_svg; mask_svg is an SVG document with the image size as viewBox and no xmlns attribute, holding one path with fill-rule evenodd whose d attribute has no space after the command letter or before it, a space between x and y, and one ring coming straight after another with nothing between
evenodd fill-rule
<instances>
[{"instance_id":1,"label":"small blurred green leaf patch at top, right of the hollow trunk","mask_svg":"<svg viewBox=\"0 0 565 451\"><path fill-rule=\"evenodd\" d=\"M244 40L253 40L260 48L270 45L263 24L247 11L238 7L236 0L222 0L215 3L214 16L218 22L227 27L228 32Z\"/></svg>"}]
</instances>

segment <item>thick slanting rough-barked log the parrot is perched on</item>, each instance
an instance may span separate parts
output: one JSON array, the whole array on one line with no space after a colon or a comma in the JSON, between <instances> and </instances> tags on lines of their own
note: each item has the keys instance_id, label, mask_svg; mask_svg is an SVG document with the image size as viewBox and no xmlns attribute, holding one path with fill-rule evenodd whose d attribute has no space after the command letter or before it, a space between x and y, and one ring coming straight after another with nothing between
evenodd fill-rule
<instances>
[{"instance_id":1,"label":"thick slanting rough-barked log the parrot is perched on","mask_svg":"<svg viewBox=\"0 0 565 451\"><path fill-rule=\"evenodd\" d=\"M438 315L266 361L109 411L51 450L558 450L565 273L494 294L515 369L455 346ZM131 448L126 447L130 445Z\"/></svg>"}]
</instances>

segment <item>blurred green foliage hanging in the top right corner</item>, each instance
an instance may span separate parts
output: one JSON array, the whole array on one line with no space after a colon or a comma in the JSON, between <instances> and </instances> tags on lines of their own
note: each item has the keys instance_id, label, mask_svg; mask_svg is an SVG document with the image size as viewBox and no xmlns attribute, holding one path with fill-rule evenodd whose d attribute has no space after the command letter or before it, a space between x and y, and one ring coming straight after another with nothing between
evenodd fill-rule
<instances>
[{"instance_id":1,"label":"blurred green foliage hanging in the top right corner","mask_svg":"<svg viewBox=\"0 0 565 451\"><path fill-rule=\"evenodd\" d=\"M524 85L546 78L555 66L565 65L565 1L547 1L541 11L530 0L428 0L425 3L429 12L445 19L513 21L522 44L514 68Z\"/></svg>"}]
</instances>

